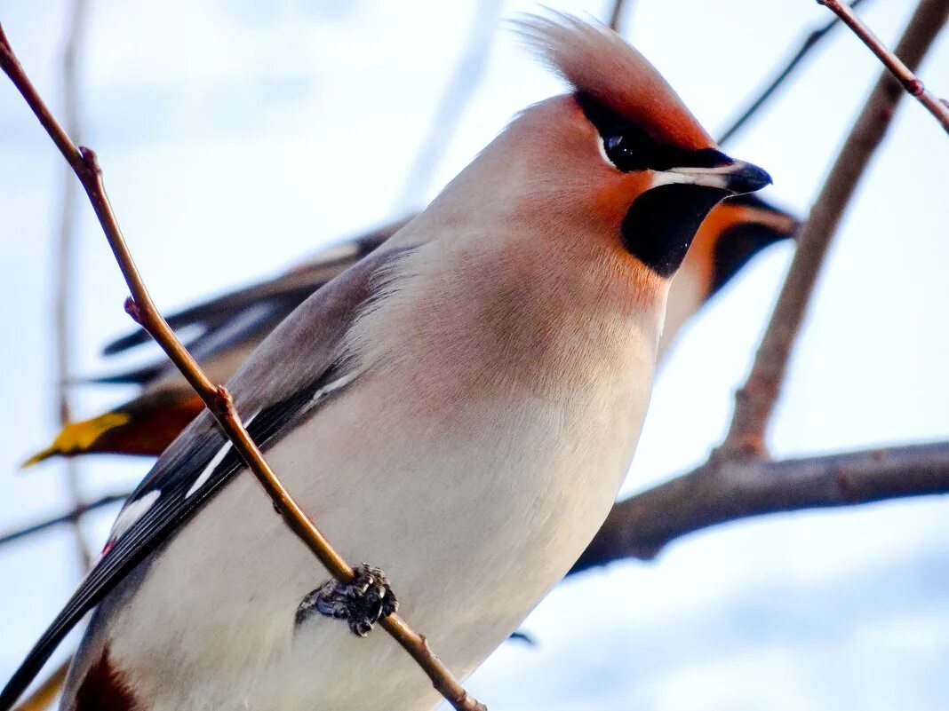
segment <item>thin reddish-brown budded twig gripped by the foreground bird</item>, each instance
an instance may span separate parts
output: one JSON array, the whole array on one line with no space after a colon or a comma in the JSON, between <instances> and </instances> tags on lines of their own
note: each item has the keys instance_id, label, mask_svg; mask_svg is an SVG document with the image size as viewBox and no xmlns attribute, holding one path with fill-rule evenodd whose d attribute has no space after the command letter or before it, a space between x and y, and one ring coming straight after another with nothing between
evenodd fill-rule
<instances>
[{"instance_id":1,"label":"thin reddish-brown budded twig gripped by the foreground bird","mask_svg":"<svg viewBox=\"0 0 949 711\"><path fill-rule=\"evenodd\" d=\"M260 449L253 443L237 411L234 410L231 393L223 386L214 385L198 366L195 358L175 336L175 332L168 323L162 319L122 237L119 222L105 192L102 169L96 154L89 148L76 146L66 136L62 126L53 118L46 103L40 98L13 54L2 26L0 26L0 66L23 95L36 118L39 119L82 183L92 203L92 208L99 218L105 238L119 263L122 277L132 294L125 301L126 311L155 338L158 345L171 358L177 369L214 414L218 425L233 442L234 449L251 469L257 481L264 487L288 528L307 545L307 548L323 563L333 577L341 582L351 582L353 569L330 545L307 513L292 499L283 483L270 468ZM448 667L443 665L428 647L425 638L410 629L398 615L383 617L380 624L419 663L438 692L458 711L475 711L475 709L484 708L474 698L468 696Z\"/></svg>"}]
</instances>

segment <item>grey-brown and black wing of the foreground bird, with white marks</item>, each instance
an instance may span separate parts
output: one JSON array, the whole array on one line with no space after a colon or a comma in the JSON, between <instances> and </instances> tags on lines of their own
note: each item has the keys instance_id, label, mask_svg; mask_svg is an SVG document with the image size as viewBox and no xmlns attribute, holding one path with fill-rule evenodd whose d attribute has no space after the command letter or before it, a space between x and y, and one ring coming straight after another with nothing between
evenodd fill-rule
<instances>
[{"instance_id":1,"label":"grey-brown and black wing of the foreground bird, with white marks","mask_svg":"<svg viewBox=\"0 0 949 711\"><path fill-rule=\"evenodd\" d=\"M254 442L267 449L357 379L344 337L405 249L367 257L326 284L264 341L234 376L234 405ZM203 411L161 456L123 507L96 566L0 692L8 711L65 635L177 527L244 467Z\"/></svg>"}]
</instances>

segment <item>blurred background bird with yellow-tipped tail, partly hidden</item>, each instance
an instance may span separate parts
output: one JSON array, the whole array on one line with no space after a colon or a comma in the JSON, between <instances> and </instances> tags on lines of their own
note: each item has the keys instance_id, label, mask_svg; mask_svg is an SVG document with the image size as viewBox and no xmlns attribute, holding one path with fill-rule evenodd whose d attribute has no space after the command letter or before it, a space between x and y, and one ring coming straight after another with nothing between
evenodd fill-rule
<instances>
[{"instance_id":1,"label":"blurred background bird with yellow-tipped tail, partly hidden","mask_svg":"<svg viewBox=\"0 0 949 711\"><path fill-rule=\"evenodd\" d=\"M187 344L216 382L226 382L276 325L330 279L356 264L403 228L411 215L321 250L266 282L241 288L172 314L178 332L199 333ZM791 239L798 220L756 195L726 198L698 228L669 286L660 360L679 330L711 301L761 250ZM109 343L105 355L123 353L149 337L134 331ZM140 394L88 419L69 423L47 447L24 463L50 457L122 454L157 457L204 409L204 403L167 359L94 378L91 382L134 384Z\"/></svg>"}]
</instances>

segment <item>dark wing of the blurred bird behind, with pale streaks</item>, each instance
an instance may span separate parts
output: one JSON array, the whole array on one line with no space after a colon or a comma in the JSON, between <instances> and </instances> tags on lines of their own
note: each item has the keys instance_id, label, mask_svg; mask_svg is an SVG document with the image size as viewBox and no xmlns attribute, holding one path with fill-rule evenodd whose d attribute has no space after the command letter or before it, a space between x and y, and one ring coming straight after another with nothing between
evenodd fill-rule
<instances>
[{"instance_id":1,"label":"dark wing of the blurred bird behind, with pale streaks","mask_svg":"<svg viewBox=\"0 0 949 711\"><path fill-rule=\"evenodd\" d=\"M305 264L275 279L255 283L178 311L167 318L168 324L182 333L186 330L196 332L196 336L191 334L190 339L187 339L187 345L198 352L199 358L213 356L220 349L248 337L263 338L310 294L374 251L406 223L407 220L399 220L330 246ZM122 353L149 339L148 334L140 329L108 343L103 354L112 356ZM144 384L162 374L166 365L162 361L135 371L96 378L93 382Z\"/></svg>"}]
</instances>

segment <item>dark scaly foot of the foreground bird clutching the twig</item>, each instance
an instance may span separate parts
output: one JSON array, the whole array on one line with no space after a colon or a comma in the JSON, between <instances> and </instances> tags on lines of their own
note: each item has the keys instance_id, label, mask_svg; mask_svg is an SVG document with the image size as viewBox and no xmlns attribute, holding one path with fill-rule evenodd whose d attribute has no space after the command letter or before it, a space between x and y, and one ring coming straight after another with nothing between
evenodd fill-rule
<instances>
[{"instance_id":1,"label":"dark scaly foot of the foreground bird clutching the twig","mask_svg":"<svg viewBox=\"0 0 949 711\"><path fill-rule=\"evenodd\" d=\"M350 583L327 580L308 593L297 607L294 626L300 627L314 613L346 620L357 637L364 637L383 617L399 610L389 579L379 568L363 563Z\"/></svg>"}]
</instances>

